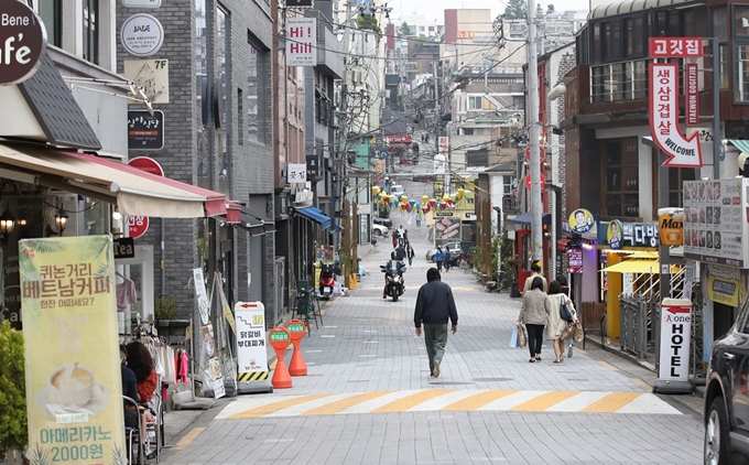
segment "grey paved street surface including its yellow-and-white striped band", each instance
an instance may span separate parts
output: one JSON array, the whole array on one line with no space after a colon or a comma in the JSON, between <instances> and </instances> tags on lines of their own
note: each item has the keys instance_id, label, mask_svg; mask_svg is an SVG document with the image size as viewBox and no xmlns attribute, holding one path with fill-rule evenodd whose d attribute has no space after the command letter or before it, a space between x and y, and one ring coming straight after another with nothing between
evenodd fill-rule
<instances>
[{"instance_id":1,"label":"grey paved street surface including its yellow-and-white striped band","mask_svg":"<svg viewBox=\"0 0 749 465\"><path fill-rule=\"evenodd\" d=\"M394 225L401 223L395 217ZM169 464L696 464L703 428L676 399L577 350L562 365L509 347L520 303L452 270L458 333L430 378L413 307L430 263L426 228L402 221L416 251L406 293L382 300L380 241L352 295L326 306L302 349L310 374L292 389L242 396ZM287 353L287 357L291 352ZM698 402L693 402L698 404ZM199 431L199 434L197 432Z\"/></svg>"}]
</instances>

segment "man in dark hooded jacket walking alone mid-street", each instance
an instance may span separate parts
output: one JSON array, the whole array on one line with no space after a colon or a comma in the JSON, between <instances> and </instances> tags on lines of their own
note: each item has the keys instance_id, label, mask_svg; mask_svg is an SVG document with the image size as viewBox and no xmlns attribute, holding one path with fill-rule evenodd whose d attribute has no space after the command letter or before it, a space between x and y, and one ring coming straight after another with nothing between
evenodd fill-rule
<instances>
[{"instance_id":1,"label":"man in dark hooded jacket walking alone mid-street","mask_svg":"<svg viewBox=\"0 0 749 465\"><path fill-rule=\"evenodd\" d=\"M430 372L439 377L439 364L445 355L447 344L447 321L452 324L453 334L458 331L458 311L455 307L453 290L441 281L439 270L430 268L426 272L426 284L419 289L416 310L413 322L416 336L422 335L424 325L424 343L430 357Z\"/></svg>"}]
</instances>

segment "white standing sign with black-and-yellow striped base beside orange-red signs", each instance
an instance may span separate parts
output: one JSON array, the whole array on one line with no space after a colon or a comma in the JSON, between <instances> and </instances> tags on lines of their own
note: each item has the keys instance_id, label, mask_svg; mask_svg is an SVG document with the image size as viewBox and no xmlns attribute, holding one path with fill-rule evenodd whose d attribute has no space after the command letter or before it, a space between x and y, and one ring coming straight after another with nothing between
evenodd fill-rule
<instances>
[{"instance_id":1,"label":"white standing sign with black-and-yellow striped base beside orange-red signs","mask_svg":"<svg viewBox=\"0 0 749 465\"><path fill-rule=\"evenodd\" d=\"M265 306L261 302L237 302L237 380L268 379L268 347L265 346Z\"/></svg>"}]
</instances>

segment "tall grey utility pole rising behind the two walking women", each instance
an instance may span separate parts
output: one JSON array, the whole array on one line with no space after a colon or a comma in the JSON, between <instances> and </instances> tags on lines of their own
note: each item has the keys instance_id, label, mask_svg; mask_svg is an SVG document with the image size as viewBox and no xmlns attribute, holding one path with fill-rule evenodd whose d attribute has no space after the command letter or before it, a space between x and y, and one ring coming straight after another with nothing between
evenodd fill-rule
<instances>
[{"instance_id":1,"label":"tall grey utility pole rising behind the two walking women","mask_svg":"<svg viewBox=\"0 0 749 465\"><path fill-rule=\"evenodd\" d=\"M541 204L541 151L539 133L539 61L535 54L535 0L528 0L528 110L531 148L531 241L534 260L543 260L543 205Z\"/></svg>"}]
</instances>

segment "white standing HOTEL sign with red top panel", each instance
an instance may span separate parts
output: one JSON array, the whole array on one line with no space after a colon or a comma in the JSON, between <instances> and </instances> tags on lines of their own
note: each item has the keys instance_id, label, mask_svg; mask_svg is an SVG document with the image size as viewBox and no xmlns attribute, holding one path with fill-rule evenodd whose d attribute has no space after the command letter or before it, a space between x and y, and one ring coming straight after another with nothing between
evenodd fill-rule
<instances>
[{"instance_id":1,"label":"white standing HOTEL sign with red top panel","mask_svg":"<svg viewBox=\"0 0 749 465\"><path fill-rule=\"evenodd\" d=\"M663 299L661 303L661 346L658 380L686 381L690 377L692 301Z\"/></svg>"}]
</instances>

